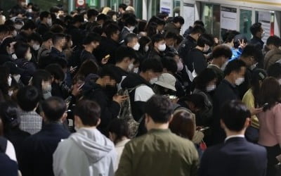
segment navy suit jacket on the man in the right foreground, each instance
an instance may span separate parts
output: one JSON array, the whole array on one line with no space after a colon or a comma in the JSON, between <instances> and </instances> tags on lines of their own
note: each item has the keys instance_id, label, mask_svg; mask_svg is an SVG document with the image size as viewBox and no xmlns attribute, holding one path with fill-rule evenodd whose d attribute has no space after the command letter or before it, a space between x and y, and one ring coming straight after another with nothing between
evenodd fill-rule
<instances>
[{"instance_id":1,"label":"navy suit jacket on the man in the right foreground","mask_svg":"<svg viewBox=\"0 0 281 176\"><path fill-rule=\"evenodd\" d=\"M263 176L267 156L263 146L233 137L204 151L199 176Z\"/></svg>"}]
</instances>

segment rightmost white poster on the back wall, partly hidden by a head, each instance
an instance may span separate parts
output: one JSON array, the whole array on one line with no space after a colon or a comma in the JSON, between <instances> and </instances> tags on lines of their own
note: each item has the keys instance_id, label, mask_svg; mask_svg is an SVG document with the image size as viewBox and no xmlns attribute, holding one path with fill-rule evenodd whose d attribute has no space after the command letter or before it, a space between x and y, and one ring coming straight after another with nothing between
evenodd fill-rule
<instances>
[{"instance_id":1,"label":"rightmost white poster on the back wall, partly hidden by a head","mask_svg":"<svg viewBox=\"0 0 281 176\"><path fill-rule=\"evenodd\" d=\"M259 11L259 23L261 23L261 26L263 27L263 32L265 32L265 35L262 38L262 40L265 43L266 43L266 39L268 39L268 37L270 36L270 26L271 26L270 18L271 18L271 13Z\"/></svg>"}]
</instances>

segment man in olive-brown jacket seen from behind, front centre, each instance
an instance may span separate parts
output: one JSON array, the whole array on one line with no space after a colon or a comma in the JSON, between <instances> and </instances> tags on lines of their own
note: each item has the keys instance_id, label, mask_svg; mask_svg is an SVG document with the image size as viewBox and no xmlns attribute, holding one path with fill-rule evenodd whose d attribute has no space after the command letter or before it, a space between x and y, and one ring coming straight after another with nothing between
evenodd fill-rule
<instances>
[{"instance_id":1,"label":"man in olive-brown jacket seen from behind, front centre","mask_svg":"<svg viewBox=\"0 0 281 176\"><path fill-rule=\"evenodd\" d=\"M169 130L173 112L174 106L165 96L152 96L145 103L148 134L125 145L116 176L197 175L194 144Z\"/></svg>"}]
</instances>

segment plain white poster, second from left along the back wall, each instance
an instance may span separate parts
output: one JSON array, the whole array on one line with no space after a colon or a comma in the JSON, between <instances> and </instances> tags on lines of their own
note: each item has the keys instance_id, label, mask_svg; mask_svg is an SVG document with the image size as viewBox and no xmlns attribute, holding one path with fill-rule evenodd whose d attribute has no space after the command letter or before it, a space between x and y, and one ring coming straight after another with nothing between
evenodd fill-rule
<instances>
[{"instance_id":1,"label":"plain white poster, second from left along the back wall","mask_svg":"<svg viewBox=\"0 0 281 176\"><path fill-rule=\"evenodd\" d=\"M183 3L183 19L185 20L185 23L183 24L183 27L181 27L181 34L183 34L185 30L188 29L188 27L193 25L194 18L195 18L194 4Z\"/></svg>"}]
</instances>

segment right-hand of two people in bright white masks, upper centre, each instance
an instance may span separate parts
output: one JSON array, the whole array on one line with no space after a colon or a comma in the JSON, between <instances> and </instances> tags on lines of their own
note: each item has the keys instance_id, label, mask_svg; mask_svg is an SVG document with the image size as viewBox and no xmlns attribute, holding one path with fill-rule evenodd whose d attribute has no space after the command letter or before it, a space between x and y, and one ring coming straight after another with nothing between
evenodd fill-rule
<instances>
[{"instance_id":1,"label":"right-hand of two people in bright white masks, upper centre","mask_svg":"<svg viewBox=\"0 0 281 176\"><path fill-rule=\"evenodd\" d=\"M164 51L166 50L165 39L162 34L155 34L152 37L152 49L148 54L148 58L157 58L159 61L163 57Z\"/></svg>"}]
</instances>

